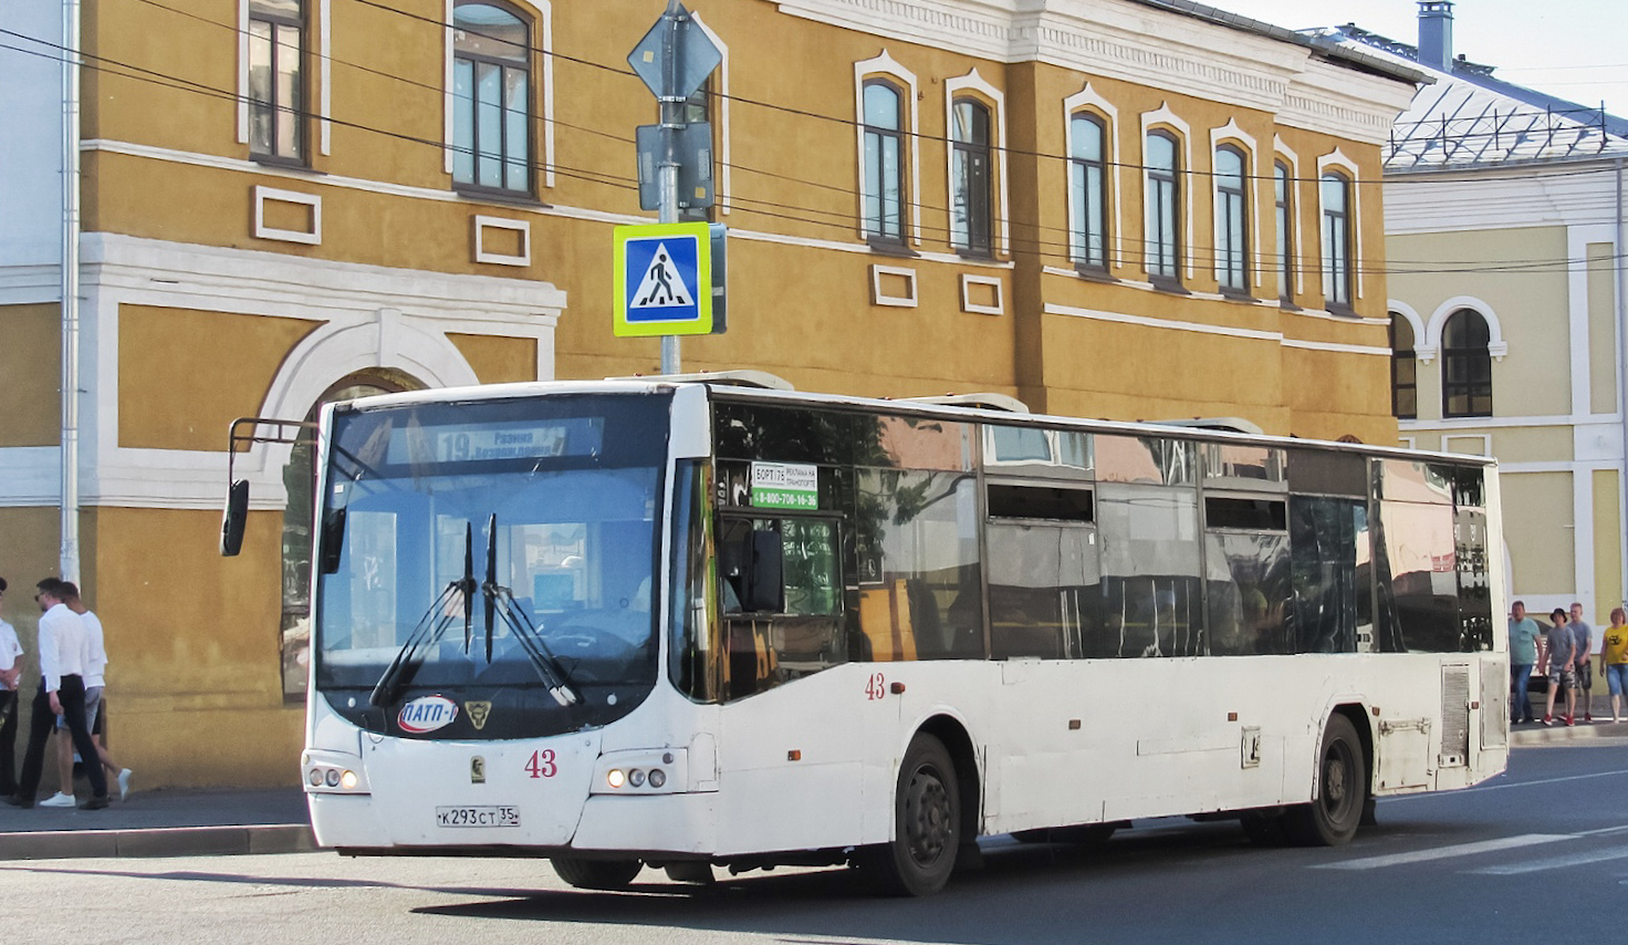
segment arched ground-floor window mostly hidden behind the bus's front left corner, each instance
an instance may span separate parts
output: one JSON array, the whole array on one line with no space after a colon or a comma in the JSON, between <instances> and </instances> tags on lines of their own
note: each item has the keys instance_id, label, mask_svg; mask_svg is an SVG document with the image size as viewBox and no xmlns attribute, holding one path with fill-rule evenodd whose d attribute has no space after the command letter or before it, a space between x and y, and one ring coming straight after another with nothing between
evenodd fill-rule
<instances>
[{"instance_id":1,"label":"arched ground-floor window mostly hidden behind the bus's front left corner","mask_svg":"<svg viewBox=\"0 0 1628 945\"><path fill-rule=\"evenodd\" d=\"M326 404L373 394L422 389L417 380L394 370L350 375L332 385L311 404L308 422L316 422ZM311 525L316 516L316 443L311 430L295 440L283 466L283 619L278 634L283 665L283 697L303 699L311 653Z\"/></svg>"}]
</instances>

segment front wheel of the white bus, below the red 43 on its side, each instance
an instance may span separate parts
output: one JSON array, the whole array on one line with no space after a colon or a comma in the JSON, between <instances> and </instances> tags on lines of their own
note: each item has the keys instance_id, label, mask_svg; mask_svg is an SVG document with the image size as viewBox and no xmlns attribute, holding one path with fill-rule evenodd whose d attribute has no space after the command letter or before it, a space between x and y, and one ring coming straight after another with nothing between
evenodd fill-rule
<instances>
[{"instance_id":1,"label":"front wheel of the white bus, below the red 43 on its side","mask_svg":"<svg viewBox=\"0 0 1628 945\"><path fill-rule=\"evenodd\" d=\"M921 733L905 751L894 790L894 839L860 850L858 865L879 893L931 896L956 870L961 790L944 743Z\"/></svg>"}]
</instances>

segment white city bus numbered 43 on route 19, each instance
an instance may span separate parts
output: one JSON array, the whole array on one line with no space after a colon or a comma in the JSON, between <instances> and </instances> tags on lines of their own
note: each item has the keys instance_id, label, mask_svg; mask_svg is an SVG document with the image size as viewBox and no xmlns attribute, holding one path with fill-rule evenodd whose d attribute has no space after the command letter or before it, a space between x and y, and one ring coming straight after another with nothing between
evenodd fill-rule
<instances>
[{"instance_id":1,"label":"white city bus numbered 43 on route 19","mask_svg":"<svg viewBox=\"0 0 1628 945\"><path fill-rule=\"evenodd\" d=\"M928 894L980 836L1341 844L1504 769L1491 461L777 386L329 407L317 841Z\"/></svg>"}]
</instances>

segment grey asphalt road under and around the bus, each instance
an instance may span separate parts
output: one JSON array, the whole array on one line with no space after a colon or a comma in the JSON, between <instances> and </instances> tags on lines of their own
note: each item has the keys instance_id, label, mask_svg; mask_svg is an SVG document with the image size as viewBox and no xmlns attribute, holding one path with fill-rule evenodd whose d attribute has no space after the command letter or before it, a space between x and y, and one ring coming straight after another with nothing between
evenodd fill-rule
<instances>
[{"instance_id":1,"label":"grey asphalt road under and around the bus","mask_svg":"<svg viewBox=\"0 0 1628 945\"><path fill-rule=\"evenodd\" d=\"M646 870L627 893L567 888L545 862L334 854L0 864L18 942L1495 942L1556 929L1621 938L1628 740L1525 748L1478 789L1385 800L1340 849L1260 849L1236 823L1143 821L1083 852L987 842L931 899L879 899L845 870L710 888ZM1556 906L1555 893L1565 893Z\"/></svg>"}]
</instances>

